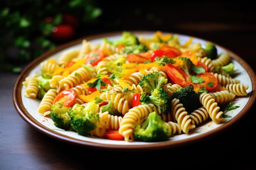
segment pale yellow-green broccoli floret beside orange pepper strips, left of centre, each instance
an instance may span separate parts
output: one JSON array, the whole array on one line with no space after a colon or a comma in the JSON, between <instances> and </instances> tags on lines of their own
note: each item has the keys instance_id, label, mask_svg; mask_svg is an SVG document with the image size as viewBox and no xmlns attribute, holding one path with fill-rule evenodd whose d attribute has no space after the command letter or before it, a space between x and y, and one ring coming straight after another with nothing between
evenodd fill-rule
<instances>
[{"instance_id":1,"label":"pale yellow-green broccoli floret beside orange pepper strips, left of centre","mask_svg":"<svg viewBox=\"0 0 256 170\"><path fill-rule=\"evenodd\" d=\"M120 56L114 61L109 61L107 69L109 73L121 73L122 65L126 62L126 57Z\"/></svg>"}]
</instances>

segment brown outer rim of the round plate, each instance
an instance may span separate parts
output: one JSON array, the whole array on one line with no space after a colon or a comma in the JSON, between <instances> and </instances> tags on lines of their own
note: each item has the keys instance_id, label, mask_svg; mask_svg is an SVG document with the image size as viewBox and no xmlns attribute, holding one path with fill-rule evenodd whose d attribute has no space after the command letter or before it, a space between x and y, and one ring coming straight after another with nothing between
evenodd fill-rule
<instances>
[{"instance_id":1,"label":"brown outer rim of the round plate","mask_svg":"<svg viewBox=\"0 0 256 170\"><path fill-rule=\"evenodd\" d=\"M130 31L130 32L135 33L135 34L144 34L144 33L153 34L153 33L155 33L154 31ZM35 66L37 66L38 64L40 64L40 62L42 62L46 58L50 57L51 55L54 55L55 53L57 53L59 51L62 51L63 49L66 49L67 47L74 46L76 44L81 43L83 39L93 40L93 39L103 38L103 37L108 37L108 36L121 35L121 33L122 33L121 31L119 31L119 32L110 32L110 33L103 33L103 34L97 34L97 35L92 35L92 36L86 36L84 38L79 38L79 39L74 40L72 42L68 42L68 43L63 44L61 46L58 46L56 49L54 49L52 51L47 51L46 53L44 53L43 55L38 57L36 60L31 62L22 71L22 73L18 77L18 79L16 81L16 84L13 88L13 104L14 104L18 114L20 115L20 117L22 117L22 119L24 119L29 125L34 127L36 130L42 132L43 134L45 134L49 137L52 137L54 139L58 139L60 141L64 141L66 143L75 144L75 145L78 145L78 146L85 146L85 147L88 147L88 148L104 149L104 150L130 150L130 149L132 149L132 150L152 150L152 149L163 149L163 148L173 148L173 147L178 147L178 146L184 146L184 145L193 144L193 143L205 140L205 139L209 139L210 137L216 136L216 135L220 134L221 132L224 132L225 130L234 126L234 124L236 124L242 117L244 117L244 115L246 113L248 113L249 110L252 108L252 106L255 102L255 99L256 99L256 93L255 93L256 75L255 75L254 71L249 66L249 64L247 64L237 54L230 51L229 49L226 49L223 46L220 46L220 45L214 43L217 46L219 46L220 48L227 51L229 54L231 54L231 56L245 68L245 70L247 71L247 73L249 74L249 76L252 80L252 93L251 93L251 96L249 98L248 103L245 105L243 110L241 110L233 119L226 122L222 126L216 128L216 129L210 130L209 132L206 132L202 135L191 137L189 139L182 139L182 140L179 140L179 141L171 141L171 142L166 142L166 143L153 143L153 144L148 144L148 145L99 144L99 143L84 141L84 140L75 139L75 138L72 138L72 137L69 137L69 136L66 136L66 135L62 135L62 134L60 134L60 133L58 133L58 132L56 132L52 129L49 129L49 128L45 127L43 124L40 124L38 121L36 121L36 119L34 119L34 117L32 117L27 112L25 106L23 106L23 104L22 104L22 99L21 99L22 82L25 80L25 78L27 77L29 72ZM171 34L174 34L174 33L171 33ZM179 33L178 35L184 35L184 34ZM190 35L184 35L184 36L189 37ZM194 38L197 38L197 37L194 37ZM197 38L197 39L204 40L204 39L201 39L201 38ZM207 41L207 40L204 40L204 41Z\"/></svg>"}]
</instances>

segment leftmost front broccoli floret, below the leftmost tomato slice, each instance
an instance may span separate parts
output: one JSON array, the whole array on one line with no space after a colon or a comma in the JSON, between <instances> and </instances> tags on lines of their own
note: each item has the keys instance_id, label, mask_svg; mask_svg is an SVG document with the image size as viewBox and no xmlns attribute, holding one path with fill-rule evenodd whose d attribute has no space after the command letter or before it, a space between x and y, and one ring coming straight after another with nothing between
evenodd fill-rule
<instances>
[{"instance_id":1,"label":"leftmost front broccoli floret, below the leftmost tomato slice","mask_svg":"<svg viewBox=\"0 0 256 170\"><path fill-rule=\"evenodd\" d=\"M70 111L70 107L63 107L63 104L56 103L51 106L51 118L54 122L54 125L58 128L69 129L70 128L70 117L68 112Z\"/></svg>"}]
</instances>

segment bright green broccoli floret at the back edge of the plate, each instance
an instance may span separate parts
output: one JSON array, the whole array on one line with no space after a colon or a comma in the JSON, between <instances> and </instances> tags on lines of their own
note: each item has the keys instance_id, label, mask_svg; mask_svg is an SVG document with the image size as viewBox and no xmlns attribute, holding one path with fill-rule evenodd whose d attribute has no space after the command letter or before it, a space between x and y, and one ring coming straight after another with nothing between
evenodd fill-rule
<instances>
[{"instance_id":1,"label":"bright green broccoli floret at the back edge of the plate","mask_svg":"<svg viewBox=\"0 0 256 170\"><path fill-rule=\"evenodd\" d=\"M123 31L122 38L117 41L109 41L106 38L103 39L105 42L108 44L112 44L114 46L119 46L121 44L124 44L125 46L134 46L134 45L139 45L139 40L138 38L133 35L130 32Z\"/></svg>"}]
</instances>

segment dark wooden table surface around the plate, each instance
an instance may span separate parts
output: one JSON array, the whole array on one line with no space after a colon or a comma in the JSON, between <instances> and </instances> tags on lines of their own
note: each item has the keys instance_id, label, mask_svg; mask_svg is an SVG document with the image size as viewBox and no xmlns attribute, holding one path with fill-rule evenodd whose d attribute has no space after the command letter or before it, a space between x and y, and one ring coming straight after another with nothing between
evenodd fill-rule
<instances>
[{"instance_id":1,"label":"dark wooden table surface around the plate","mask_svg":"<svg viewBox=\"0 0 256 170\"><path fill-rule=\"evenodd\" d=\"M187 4L185 9L188 7ZM242 13L238 11L239 4L236 4L235 7L237 11L229 10L227 15L231 17L231 14L236 14L233 15L236 19L229 20L227 15L224 16L226 13L221 11L225 9L223 7L219 10L224 16L224 19L220 20L221 22L218 22L218 19L207 23L193 20L198 24L195 26L195 23L186 22L189 21L187 19L183 20L183 23L179 22L165 27L164 31L179 30L177 31L179 33L216 42L241 56L256 71L255 14L250 11L253 9L252 7L248 6ZM242 4L241 8L243 7ZM162 15L161 12L159 15ZM229 22L226 22L227 20ZM139 27L127 24L118 27L119 30L126 28L146 29L142 24ZM151 26L150 29L161 29L161 25ZM104 31L91 32L103 33ZM89 35L89 32L82 35ZM0 73L0 170L70 170L113 168L114 166L121 169L135 168L135 162L144 168L153 164L160 167L169 166L170 169L174 167L207 168L208 166L220 168L221 165L243 169L255 169L256 167L254 158L256 145L252 139L255 137L255 108L252 108L238 124L229 130L189 146L150 152L92 150L57 141L29 126L13 106L12 91L17 77L18 75L12 73ZM163 155L163 153L167 153L167 155Z\"/></svg>"}]
</instances>

